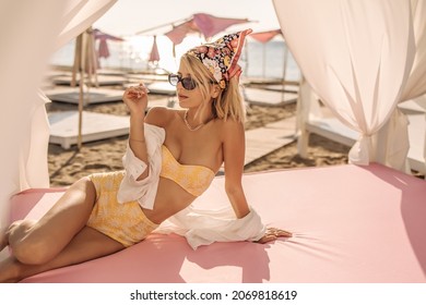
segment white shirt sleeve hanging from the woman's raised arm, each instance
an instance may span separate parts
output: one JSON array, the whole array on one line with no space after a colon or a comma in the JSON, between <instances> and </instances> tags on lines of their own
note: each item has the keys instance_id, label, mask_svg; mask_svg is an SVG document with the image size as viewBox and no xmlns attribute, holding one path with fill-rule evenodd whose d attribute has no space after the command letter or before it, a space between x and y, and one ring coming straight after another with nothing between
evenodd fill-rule
<instances>
[{"instance_id":1,"label":"white shirt sleeve hanging from the woman's raised arm","mask_svg":"<svg viewBox=\"0 0 426 305\"><path fill-rule=\"evenodd\" d=\"M134 156L129 144L122 157L125 176L121 181L117 200L120 204L138 200L147 209L154 207L155 195L158 188L159 172L162 168L162 145L165 138L165 131L161 127L145 124L145 141L149 163ZM149 175L138 181L138 178L150 168Z\"/></svg>"}]
</instances>

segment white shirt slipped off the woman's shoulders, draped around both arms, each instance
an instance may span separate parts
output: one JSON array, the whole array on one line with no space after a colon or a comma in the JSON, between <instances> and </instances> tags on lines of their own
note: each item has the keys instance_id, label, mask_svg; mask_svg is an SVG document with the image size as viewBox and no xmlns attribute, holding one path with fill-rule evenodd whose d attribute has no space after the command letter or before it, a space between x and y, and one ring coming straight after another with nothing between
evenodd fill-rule
<instances>
[{"instance_id":1,"label":"white shirt slipped off the woman's shoulders, draped around both arms","mask_svg":"<svg viewBox=\"0 0 426 305\"><path fill-rule=\"evenodd\" d=\"M121 181L117 199L120 204L138 200L146 209L153 209L162 170L162 145L165 130L155 125L144 125L149 164L137 158L127 146L122 157L126 174ZM149 175L138 181L146 168ZM191 205L168 218L156 230L157 233L177 233L185 236L192 248L213 242L258 241L265 231L259 215L250 207L250 212L237 219L230 205L217 210L194 209Z\"/></svg>"}]
</instances>

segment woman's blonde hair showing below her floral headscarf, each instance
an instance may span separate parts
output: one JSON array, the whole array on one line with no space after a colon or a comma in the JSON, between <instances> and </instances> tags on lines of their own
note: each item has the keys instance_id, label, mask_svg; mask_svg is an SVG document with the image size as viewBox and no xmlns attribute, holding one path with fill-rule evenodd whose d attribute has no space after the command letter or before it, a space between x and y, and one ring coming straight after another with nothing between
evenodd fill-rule
<instances>
[{"instance_id":1,"label":"woman's blonde hair showing below her floral headscarf","mask_svg":"<svg viewBox=\"0 0 426 305\"><path fill-rule=\"evenodd\" d=\"M210 95L212 86L216 84L213 74L196 57L184 54L180 64L189 72L191 77L197 82L204 99ZM239 83L236 77L230 78L225 89L221 89L217 98L212 101L212 112L217 119L232 119L238 122L246 120L246 108L240 93Z\"/></svg>"}]
</instances>

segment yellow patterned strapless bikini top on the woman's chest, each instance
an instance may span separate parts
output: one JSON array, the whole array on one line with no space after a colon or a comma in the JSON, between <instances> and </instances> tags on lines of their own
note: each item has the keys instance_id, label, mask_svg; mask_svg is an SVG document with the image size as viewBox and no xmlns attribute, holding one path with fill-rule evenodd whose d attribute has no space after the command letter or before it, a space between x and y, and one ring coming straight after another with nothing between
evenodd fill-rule
<instances>
[{"instance_id":1,"label":"yellow patterned strapless bikini top on the woman's chest","mask_svg":"<svg viewBox=\"0 0 426 305\"><path fill-rule=\"evenodd\" d=\"M200 196L212 183L214 172L203 166L180 164L170 150L163 145L163 164L159 176L167 178L179 184L193 196Z\"/></svg>"}]
</instances>

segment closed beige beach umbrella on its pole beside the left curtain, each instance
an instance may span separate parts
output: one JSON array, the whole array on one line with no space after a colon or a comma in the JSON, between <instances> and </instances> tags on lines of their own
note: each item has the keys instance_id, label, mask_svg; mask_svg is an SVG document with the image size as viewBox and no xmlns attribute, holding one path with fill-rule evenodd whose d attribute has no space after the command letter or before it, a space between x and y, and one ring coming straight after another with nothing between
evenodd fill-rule
<instances>
[{"instance_id":1,"label":"closed beige beach umbrella on its pole beside the left curtain","mask_svg":"<svg viewBox=\"0 0 426 305\"><path fill-rule=\"evenodd\" d=\"M76 86L79 74L79 127L78 148L82 146L83 106L85 103L85 87L98 86L97 83L97 53L95 49L95 36L92 27L81 33L75 38L74 64L72 66L71 86ZM87 80L87 82L85 82Z\"/></svg>"}]
</instances>

